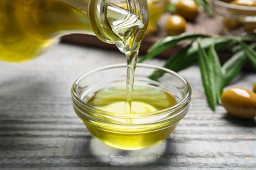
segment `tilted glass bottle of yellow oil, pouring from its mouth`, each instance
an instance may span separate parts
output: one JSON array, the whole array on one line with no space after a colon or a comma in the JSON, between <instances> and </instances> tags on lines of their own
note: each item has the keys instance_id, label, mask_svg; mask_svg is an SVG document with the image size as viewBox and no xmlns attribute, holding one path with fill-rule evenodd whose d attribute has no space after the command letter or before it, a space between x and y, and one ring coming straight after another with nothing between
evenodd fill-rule
<instances>
[{"instance_id":1,"label":"tilted glass bottle of yellow oil, pouring from its mouth","mask_svg":"<svg viewBox=\"0 0 256 170\"><path fill-rule=\"evenodd\" d=\"M1 61L35 58L62 35L70 33L96 35L123 50L124 46L136 48L140 44L148 22L148 3L146 0L1 0L0 21Z\"/></svg>"}]
</instances>

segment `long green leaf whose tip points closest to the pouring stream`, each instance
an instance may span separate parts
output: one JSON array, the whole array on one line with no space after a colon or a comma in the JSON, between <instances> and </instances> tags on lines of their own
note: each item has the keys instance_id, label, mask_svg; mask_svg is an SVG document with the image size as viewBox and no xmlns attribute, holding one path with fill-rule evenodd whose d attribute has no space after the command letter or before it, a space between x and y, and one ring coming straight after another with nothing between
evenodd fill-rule
<instances>
[{"instance_id":1,"label":"long green leaf whose tip points closest to the pouring stream","mask_svg":"<svg viewBox=\"0 0 256 170\"><path fill-rule=\"evenodd\" d=\"M154 58L164 50L167 50L168 48L171 48L175 45L178 45L179 43L183 41L194 41L198 39L199 37L201 38L206 38L210 37L209 35L203 35L203 34L187 34L187 33L182 33L181 35L177 36L168 36L164 37L163 39L160 39L159 41L155 42L148 50L148 53L140 58L139 63L142 63L146 59Z\"/></svg>"}]
</instances>

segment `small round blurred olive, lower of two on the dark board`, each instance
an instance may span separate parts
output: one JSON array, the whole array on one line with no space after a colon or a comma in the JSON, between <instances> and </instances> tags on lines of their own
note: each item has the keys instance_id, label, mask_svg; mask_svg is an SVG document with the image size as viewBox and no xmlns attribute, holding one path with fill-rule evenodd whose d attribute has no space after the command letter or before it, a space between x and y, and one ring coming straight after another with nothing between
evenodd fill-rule
<instances>
[{"instance_id":1,"label":"small round blurred olive, lower of two on the dark board","mask_svg":"<svg viewBox=\"0 0 256 170\"><path fill-rule=\"evenodd\" d=\"M176 14L168 16L165 24L165 30L167 31L168 35L171 36L184 33L186 30L186 20L182 16Z\"/></svg>"}]
</instances>

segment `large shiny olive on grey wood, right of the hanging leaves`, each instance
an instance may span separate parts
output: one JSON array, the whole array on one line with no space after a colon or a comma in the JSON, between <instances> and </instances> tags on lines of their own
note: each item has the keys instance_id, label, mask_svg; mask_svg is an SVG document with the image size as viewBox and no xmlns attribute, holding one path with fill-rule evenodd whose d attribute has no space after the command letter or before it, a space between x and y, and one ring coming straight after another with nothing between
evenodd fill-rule
<instances>
[{"instance_id":1,"label":"large shiny olive on grey wood, right of the hanging leaves","mask_svg":"<svg viewBox=\"0 0 256 170\"><path fill-rule=\"evenodd\" d=\"M238 118L256 116L256 93L244 88L229 88L221 95L221 101L232 116Z\"/></svg>"}]
</instances>

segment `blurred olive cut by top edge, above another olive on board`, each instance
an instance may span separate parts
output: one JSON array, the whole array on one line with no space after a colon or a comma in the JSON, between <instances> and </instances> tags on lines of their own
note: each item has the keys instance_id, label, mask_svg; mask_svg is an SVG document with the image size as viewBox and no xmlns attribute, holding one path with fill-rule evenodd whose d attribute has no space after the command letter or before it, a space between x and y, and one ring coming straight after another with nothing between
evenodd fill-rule
<instances>
[{"instance_id":1,"label":"blurred olive cut by top edge, above another olive on board","mask_svg":"<svg viewBox=\"0 0 256 170\"><path fill-rule=\"evenodd\" d=\"M194 20L198 16L198 4L194 0L179 0L175 4L175 12L186 20Z\"/></svg>"}]
</instances>

